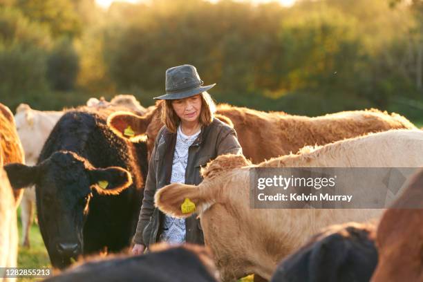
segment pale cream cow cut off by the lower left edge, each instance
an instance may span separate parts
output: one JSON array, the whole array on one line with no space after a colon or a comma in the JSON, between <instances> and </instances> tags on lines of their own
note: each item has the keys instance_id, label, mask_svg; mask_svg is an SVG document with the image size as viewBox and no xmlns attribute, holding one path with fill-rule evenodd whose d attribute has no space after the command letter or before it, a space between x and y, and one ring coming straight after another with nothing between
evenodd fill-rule
<instances>
[{"instance_id":1,"label":"pale cream cow cut off by the lower left edge","mask_svg":"<svg viewBox=\"0 0 423 282\"><path fill-rule=\"evenodd\" d=\"M3 170L3 154L0 147L0 267L17 267L17 219L15 198L6 171ZM4 268L0 269L0 281L4 279Z\"/></svg>"}]
</instances>

